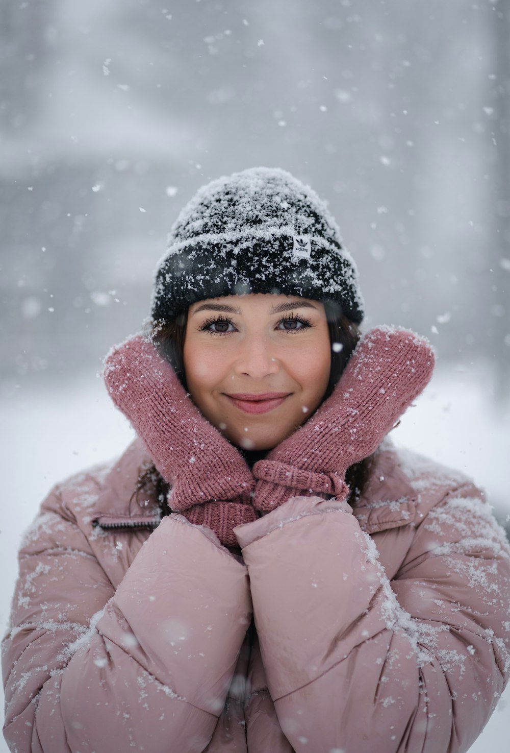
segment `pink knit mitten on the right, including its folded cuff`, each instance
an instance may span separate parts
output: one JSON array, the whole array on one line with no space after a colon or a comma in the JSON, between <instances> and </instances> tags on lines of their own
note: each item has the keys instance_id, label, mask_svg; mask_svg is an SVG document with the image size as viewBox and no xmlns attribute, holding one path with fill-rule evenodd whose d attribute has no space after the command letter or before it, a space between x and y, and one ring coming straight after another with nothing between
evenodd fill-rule
<instances>
[{"instance_id":1,"label":"pink knit mitten on the right, including its folded cuff","mask_svg":"<svg viewBox=\"0 0 510 753\"><path fill-rule=\"evenodd\" d=\"M290 496L345 498L345 472L381 444L432 376L427 340L381 327L358 343L332 395L294 434L253 465L253 506L269 511Z\"/></svg>"}]
</instances>

